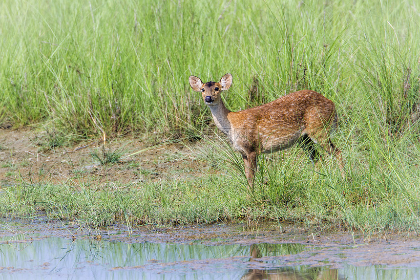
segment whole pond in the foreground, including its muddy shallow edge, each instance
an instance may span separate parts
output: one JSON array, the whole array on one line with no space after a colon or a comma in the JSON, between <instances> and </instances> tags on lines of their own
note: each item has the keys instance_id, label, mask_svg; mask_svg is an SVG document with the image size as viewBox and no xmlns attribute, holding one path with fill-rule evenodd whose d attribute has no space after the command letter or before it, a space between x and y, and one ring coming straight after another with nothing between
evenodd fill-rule
<instances>
[{"instance_id":1,"label":"whole pond in the foreground, including its muddy shallow edge","mask_svg":"<svg viewBox=\"0 0 420 280\"><path fill-rule=\"evenodd\" d=\"M339 235L315 242L316 236L244 234L222 225L130 236L113 231L95 239L2 225L2 279L420 279L416 238L360 243Z\"/></svg>"}]
</instances>

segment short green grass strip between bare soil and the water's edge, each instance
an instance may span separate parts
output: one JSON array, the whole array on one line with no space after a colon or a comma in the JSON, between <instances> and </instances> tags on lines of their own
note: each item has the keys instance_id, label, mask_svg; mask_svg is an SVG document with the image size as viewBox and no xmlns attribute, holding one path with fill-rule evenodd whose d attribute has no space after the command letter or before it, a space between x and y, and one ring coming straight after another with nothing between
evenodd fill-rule
<instances>
[{"instance_id":1,"label":"short green grass strip between bare soil and the water's edge","mask_svg":"<svg viewBox=\"0 0 420 280\"><path fill-rule=\"evenodd\" d=\"M131 227L235 220L253 227L267 218L280 223L303 222L319 229L357 229L366 234L418 228L418 214L413 211L418 211L419 205L407 188L415 185L415 178L406 176L401 184L397 174L356 176L345 183L333 169L313 176L312 171L304 170L307 167L301 161L285 162L280 169L276 166L251 194L244 178L226 175L126 186L110 182L101 188L88 183L68 186L22 181L17 187L3 189L0 212L42 219L46 215L93 228L115 221Z\"/></svg>"}]
</instances>

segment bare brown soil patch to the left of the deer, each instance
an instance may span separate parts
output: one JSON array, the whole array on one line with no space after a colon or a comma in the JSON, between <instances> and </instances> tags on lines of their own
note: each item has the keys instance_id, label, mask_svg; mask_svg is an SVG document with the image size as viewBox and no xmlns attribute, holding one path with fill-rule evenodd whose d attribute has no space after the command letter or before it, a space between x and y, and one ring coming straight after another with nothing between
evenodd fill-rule
<instances>
[{"instance_id":1,"label":"bare brown soil patch to the left of the deer","mask_svg":"<svg viewBox=\"0 0 420 280\"><path fill-rule=\"evenodd\" d=\"M48 148L50 137L47 131L0 129L0 186L16 184L21 179L29 183L79 185L83 182L85 186L100 187L200 177L216 172L207 160L200 159L198 150L203 146L200 142L187 148L182 144L162 146L126 137L105 142L105 149L102 139ZM101 165L91 153L102 155L104 150L122 151L122 157L115 164ZM138 153L128 156L135 152Z\"/></svg>"}]
</instances>

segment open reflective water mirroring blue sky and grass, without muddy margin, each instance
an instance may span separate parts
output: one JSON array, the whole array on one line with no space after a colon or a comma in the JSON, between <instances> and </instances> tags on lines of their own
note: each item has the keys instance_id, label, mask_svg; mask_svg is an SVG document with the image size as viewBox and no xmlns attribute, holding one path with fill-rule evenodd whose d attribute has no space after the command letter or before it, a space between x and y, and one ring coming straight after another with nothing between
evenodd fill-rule
<instances>
[{"instance_id":1,"label":"open reflective water mirroring blue sky and grass, without muddy margin","mask_svg":"<svg viewBox=\"0 0 420 280\"><path fill-rule=\"evenodd\" d=\"M420 279L419 267L349 264L357 260L350 247L129 244L23 234L0 242L0 279Z\"/></svg>"}]
</instances>

